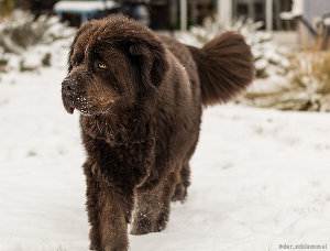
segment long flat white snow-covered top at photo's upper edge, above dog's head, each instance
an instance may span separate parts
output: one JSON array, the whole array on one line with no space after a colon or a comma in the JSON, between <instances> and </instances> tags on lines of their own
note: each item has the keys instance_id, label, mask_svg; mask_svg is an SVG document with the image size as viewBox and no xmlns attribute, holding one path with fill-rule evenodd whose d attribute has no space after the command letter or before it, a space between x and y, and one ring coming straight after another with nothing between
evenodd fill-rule
<instances>
[{"instance_id":1,"label":"long flat white snow-covered top at photo's upper edge, above dog's head","mask_svg":"<svg viewBox=\"0 0 330 251\"><path fill-rule=\"evenodd\" d=\"M59 1L54 6L55 12L96 12L117 8L114 1Z\"/></svg>"}]
</instances>

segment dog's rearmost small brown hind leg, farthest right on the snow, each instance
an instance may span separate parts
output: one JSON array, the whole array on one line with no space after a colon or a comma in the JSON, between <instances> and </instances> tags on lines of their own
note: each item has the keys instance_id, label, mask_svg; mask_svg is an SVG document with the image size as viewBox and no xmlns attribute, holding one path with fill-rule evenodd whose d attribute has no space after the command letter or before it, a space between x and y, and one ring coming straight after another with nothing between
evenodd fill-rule
<instances>
[{"instance_id":1,"label":"dog's rearmost small brown hind leg, farthest right on the snow","mask_svg":"<svg viewBox=\"0 0 330 251\"><path fill-rule=\"evenodd\" d=\"M187 194L188 186L190 185L190 165L189 162L186 162L178 174L178 183L175 186L175 192L172 196L172 201L182 201L184 203Z\"/></svg>"}]
</instances>

